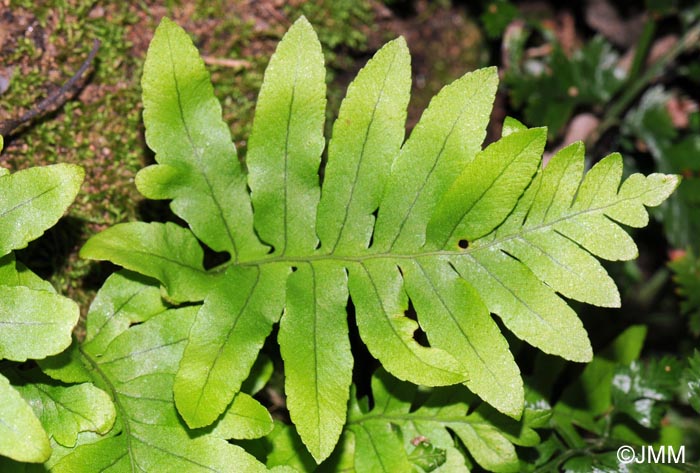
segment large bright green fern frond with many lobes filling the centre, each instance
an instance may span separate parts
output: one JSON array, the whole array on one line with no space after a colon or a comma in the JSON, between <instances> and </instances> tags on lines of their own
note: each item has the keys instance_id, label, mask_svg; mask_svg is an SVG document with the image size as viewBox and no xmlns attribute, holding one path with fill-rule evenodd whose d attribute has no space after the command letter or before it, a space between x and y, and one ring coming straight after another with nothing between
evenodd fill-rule
<instances>
[{"instance_id":1,"label":"large bright green fern frond with many lobes filling the centre","mask_svg":"<svg viewBox=\"0 0 700 473\"><path fill-rule=\"evenodd\" d=\"M349 299L362 340L392 375L464 383L518 418L523 383L491 314L546 353L589 361L587 334L561 296L620 304L594 255L634 258L619 224L646 225L644 207L678 178L635 174L621 184L617 154L584 176L580 143L543 167L546 130L514 120L482 150L494 68L446 86L404 140L411 75L399 38L348 88L321 179L324 79L320 43L302 18L265 73L245 172L195 47L163 20L142 82L158 164L136 184L172 199L189 228L124 223L82 255L158 279L171 302L204 301L173 386L192 428L224 412L279 322L291 419L316 461L327 458L350 397ZM205 270L200 242L230 261ZM428 344L414 339L419 326Z\"/></svg>"}]
</instances>

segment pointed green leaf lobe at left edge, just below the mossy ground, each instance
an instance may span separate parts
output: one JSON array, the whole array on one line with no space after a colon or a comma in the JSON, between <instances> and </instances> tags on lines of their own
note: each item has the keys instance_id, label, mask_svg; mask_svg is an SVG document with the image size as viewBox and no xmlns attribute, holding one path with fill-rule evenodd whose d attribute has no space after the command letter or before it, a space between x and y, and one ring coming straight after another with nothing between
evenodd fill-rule
<instances>
[{"instance_id":1,"label":"pointed green leaf lobe at left edge, just below the mossy ground","mask_svg":"<svg viewBox=\"0 0 700 473\"><path fill-rule=\"evenodd\" d=\"M52 227L75 199L84 175L80 166L55 164L0 177L0 256Z\"/></svg>"}]
</instances>

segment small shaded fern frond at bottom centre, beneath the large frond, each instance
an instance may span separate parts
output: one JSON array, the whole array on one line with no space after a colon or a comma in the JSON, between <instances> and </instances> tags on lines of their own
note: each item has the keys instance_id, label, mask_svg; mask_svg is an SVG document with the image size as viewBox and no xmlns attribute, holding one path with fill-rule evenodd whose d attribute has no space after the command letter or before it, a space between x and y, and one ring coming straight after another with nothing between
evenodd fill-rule
<instances>
[{"instance_id":1,"label":"small shaded fern frond at bottom centre, beneath the large frond","mask_svg":"<svg viewBox=\"0 0 700 473\"><path fill-rule=\"evenodd\" d=\"M520 471L515 446L540 442L532 425L515 422L485 404L467 415L469 399L474 398L462 387L436 388L420 398L422 402L417 394L416 386L384 370L374 374L372 409L365 399L353 402L348 419L357 471L410 471L409 459L419 457L421 444L445 452L442 462L433 465L436 471L469 471L452 432L482 467L514 472ZM443 465L450 469L437 469Z\"/></svg>"}]
</instances>

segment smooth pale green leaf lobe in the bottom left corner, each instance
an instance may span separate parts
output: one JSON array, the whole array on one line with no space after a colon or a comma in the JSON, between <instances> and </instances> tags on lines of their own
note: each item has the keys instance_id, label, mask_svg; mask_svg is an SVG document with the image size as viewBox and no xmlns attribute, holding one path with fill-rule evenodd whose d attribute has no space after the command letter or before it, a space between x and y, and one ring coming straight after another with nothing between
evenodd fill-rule
<instances>
[{"instance_id":1,"label":"smooth pale green leaf lobe in the bottom left corner","mask_svg":"<svg viewBox=\"0 0 700 473\"><path fill-rule=\"evenodd\" d=\"M0 374L0 455L41 463L51 456L49 438L31 407Z\"/></svg>"}]
</instances>

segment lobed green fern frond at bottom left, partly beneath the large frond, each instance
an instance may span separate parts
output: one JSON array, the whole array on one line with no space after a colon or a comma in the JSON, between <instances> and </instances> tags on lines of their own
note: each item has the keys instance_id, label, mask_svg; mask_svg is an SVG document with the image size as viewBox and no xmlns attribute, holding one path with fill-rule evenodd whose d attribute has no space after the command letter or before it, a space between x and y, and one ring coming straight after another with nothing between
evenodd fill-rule
<instances>
[{"instance_id":1,"label":"lobed green fern frond at bottom left, partly beneath the large frond","mask_svg":"<svg viewBox=\"0 0 700 473\"><path fill-rule=\"evenodd\" d=\"M197 306L162 310L153 289L128 273L117 273L98 293L88 313L81 362L114 400L117 425L71 449L52 471L83 471L90 465L91 471L224 472L232 464L242 471L267 471L225 440L272 429L269 414L250 396L237 396L221 425L207 432L189 432L181 423L172 384ZM103 330L108 334L100 336ZM255 421L242 426L236 422L241 415Z\"/></svg>"}]
</instances>

